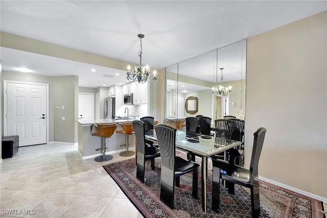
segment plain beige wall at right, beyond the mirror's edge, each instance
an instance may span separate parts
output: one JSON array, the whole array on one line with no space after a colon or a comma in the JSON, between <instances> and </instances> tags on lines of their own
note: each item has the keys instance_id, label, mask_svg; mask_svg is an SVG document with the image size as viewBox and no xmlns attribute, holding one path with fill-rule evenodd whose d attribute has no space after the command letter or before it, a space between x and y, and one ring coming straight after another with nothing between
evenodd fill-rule
<instances>
[{"instance_id":1,"label":"plain beige wall at right, beyond the mirror's edge","mask_svg":"<svg viewBox=\"0 0 327 218\"><path fill-rule=\"evenodd\" d=\"M327 198L327 12L247 43L245 161L266 127L259 175Z\"/></svg>"}]
</instances>

